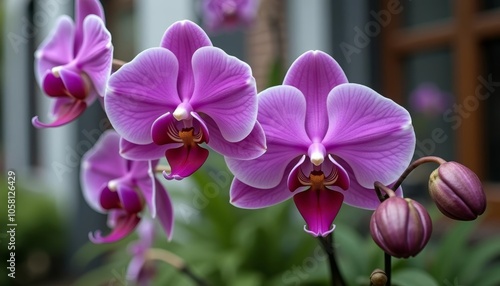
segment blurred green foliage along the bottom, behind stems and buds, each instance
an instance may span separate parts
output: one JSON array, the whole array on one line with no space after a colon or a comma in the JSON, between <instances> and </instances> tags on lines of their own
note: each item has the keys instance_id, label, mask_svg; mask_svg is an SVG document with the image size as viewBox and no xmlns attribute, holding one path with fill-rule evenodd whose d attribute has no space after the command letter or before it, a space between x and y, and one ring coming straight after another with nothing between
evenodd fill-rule
<instances>
[{"instance_id":1,"label":"blurred green foliage along the bottom, behind stems and buds","mask_svg":"<svg viewBox=\"0 0 500 286\"><path fill-rule=\"evenodd\" d=\"M229 204L229 174L223 160L211 155L189 183L167 182L176 209L174 239L167 242L159 231L155 247L182 257L210 285L329 285L326 256L318 241L302 230L304 222L293 202L238 209ZM435 207L430 209L434 221L451 222ZM334 247L348 285L369 285L370 273L384 265L383 253L368 233L370 215L344 206L335 221ZM477 225L457 222L446 231L436 229L417 257L393 259L393 285L500 284L500 240L477 237ZM130 285L125 280L130 255L125 250L136 237L118 245L86 246L77 261L87 263L105 253L109 263L75 285ZM157 267L152 285L195 285L170 265L158 262Z\"/></svg>"}]
</instances>

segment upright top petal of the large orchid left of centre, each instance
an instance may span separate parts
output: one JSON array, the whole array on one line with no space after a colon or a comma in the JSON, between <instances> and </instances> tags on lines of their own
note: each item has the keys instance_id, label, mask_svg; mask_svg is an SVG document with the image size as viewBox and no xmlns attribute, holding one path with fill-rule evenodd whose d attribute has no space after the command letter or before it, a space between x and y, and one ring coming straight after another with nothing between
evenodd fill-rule
<instances>
[{"instance_id":1,"label":"upright top petal of the large orchid left of centre","mask_svg":"<svg viewBox=\"0 0 500 286\"><path fill-rule=\"evenodd\" d=\"M161 47L174 53L179 62L178 90L182 100L191 98L194 89L191 59L196 50L211 46L207 34L195 23L184 20L172 24L163 35Z\"/></svg>"}]
</instances>

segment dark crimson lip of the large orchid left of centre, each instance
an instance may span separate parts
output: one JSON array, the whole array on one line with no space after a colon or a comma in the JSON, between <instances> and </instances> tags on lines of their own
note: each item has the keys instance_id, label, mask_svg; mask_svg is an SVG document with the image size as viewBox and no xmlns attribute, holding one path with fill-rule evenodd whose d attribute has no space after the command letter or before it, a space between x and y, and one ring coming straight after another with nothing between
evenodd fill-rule
<instances>
[{"instance_id":1,"label":"dark crimson lip of the large orchid left of centre","mask_svg":"<svg viewBox=\"0 0 500 286\"><path fill-rule=\"evenodd\" d=\"M181 180L196 172L208 158L208 150L201 148L198 144L184 145L165 152L170 173L163 172L167 180Z\"/></svg>"}]
</instances>

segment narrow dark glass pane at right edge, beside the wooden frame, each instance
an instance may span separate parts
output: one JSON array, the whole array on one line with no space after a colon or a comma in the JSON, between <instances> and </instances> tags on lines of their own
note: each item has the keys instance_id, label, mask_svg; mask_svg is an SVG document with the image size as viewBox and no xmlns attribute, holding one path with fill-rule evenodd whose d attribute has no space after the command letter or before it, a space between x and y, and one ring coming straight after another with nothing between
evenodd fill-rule
<instances>
[{"instance_id":1,"label":"narrow dark glass pane at right edge, beside the wooden frame","mask_svg":"<svg viewBox=\"0 0 500 286\"><path fill-rule=\"evenodd\" d=\"M500 182L500 39L484 43L486 74L478 78L485 103L486 179ZM478 93L479 94L479 93Z\"/></svg>"}]
</instances>

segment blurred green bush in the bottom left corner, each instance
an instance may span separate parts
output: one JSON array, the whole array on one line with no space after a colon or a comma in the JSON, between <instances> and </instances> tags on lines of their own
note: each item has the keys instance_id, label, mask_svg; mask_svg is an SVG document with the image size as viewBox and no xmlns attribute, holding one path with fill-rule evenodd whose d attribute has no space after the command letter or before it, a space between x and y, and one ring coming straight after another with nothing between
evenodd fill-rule
<instances>
[{"instance_id":1,"label":"blurred green bush in the bottom left corner","mask_svg":"<svg viewBox=\"0 0 500 286\"><path fill-rule=\"evenodd\" d=\"M17 177L17 180L19 178ZM0 285L36 285L51 279L51 275L61 271L61 261L67 241L63 220L57 212L51 197L42 193L34 193L23 188L16 181L15 190L15 260L16 278L0 276ZM10 236L5 235L10 229L7 226L8 184L5 178L0 179L0 256L2 260L10 257L8 244ZM12 246L14 244L11 244ZM5 260L2 265L5 265Z\"/></svg>"}]
</instances>

